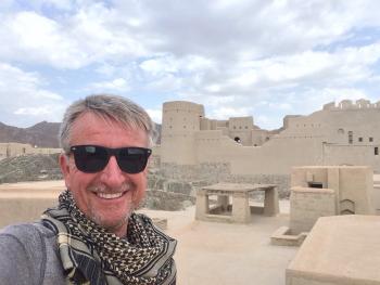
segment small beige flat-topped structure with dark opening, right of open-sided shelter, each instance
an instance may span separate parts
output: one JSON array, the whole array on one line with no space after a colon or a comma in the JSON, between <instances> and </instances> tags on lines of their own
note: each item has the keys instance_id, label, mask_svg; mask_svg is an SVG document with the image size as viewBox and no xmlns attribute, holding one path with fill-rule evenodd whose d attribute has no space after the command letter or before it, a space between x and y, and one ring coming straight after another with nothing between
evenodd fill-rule
<instances>
[{"instance_id":1,"label":"small beige flat-topped structure with dark opening, right of open-sided shelter","mask_svg":"<svg viewBox=\"0 0 380 285\"><path fill-rule=\"evenodd\" d=\"M290 196L291 233L308 232L319 217L375 215L375 198L370 167L294 167Z\"/></svg>"}]
</instances>

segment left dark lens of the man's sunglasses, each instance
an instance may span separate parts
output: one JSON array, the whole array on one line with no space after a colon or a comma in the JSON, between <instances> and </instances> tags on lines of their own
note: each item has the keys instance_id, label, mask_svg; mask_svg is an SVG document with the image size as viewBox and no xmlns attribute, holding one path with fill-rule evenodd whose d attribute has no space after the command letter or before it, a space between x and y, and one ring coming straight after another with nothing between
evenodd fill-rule
<instances>
[{"instance_id":1,"label":"left dark lens of the man's sunglasses","mask_svg":"<svg viewBox=\"0 0 380 285\"><path fill-rule=\"evenodd\" d=\"M86 173L101 171L109 163L109 155L104 147L81 145L72 148L76 167Z\"/></svg>"}]
</instances>

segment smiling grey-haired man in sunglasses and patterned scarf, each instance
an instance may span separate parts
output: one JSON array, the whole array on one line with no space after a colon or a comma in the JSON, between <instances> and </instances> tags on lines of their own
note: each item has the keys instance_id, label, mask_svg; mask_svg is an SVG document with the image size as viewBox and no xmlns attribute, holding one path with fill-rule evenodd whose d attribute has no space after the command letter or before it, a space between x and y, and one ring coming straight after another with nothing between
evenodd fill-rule
<instances>
[{"instance_id":1,"label":"smiling grey-haired man in sunglasses and patterned scarf","mask_svg":"<svg viewBox=\"0 0 380 285\"><path fill-rule=\"evenodd\" d=\"M63 118L67 190L41 221L0 233L1 284L175 284L176 241L134 212L147 189L152 121L135 103L91 95Z\"/></svg>"}]
</instances>

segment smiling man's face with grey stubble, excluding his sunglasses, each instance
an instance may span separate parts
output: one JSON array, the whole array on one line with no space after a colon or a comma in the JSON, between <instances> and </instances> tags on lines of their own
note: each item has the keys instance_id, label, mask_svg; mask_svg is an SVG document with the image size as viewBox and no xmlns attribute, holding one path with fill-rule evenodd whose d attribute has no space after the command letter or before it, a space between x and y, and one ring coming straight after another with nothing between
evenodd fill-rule
<instances>
[{"instance_id":1,"label":"smiling man's face with grey stubble, excluding his sunglasses","mask_svg":"<svg viewBox=\"0 0 380 285\"><path fill-rule=\"evenodd\" d=\"M130 129L92 113L85 113L74 122L69 143L71 146L147 147L148 138L140 129ZM144 196L147 168L136 174L123 172L116 157L112 156L103 170L85 173L76 168L73 154L68 158L61 155L60 165L78 208L96 223L124 236L130 212Z\"/></svg>"}]
</instances>

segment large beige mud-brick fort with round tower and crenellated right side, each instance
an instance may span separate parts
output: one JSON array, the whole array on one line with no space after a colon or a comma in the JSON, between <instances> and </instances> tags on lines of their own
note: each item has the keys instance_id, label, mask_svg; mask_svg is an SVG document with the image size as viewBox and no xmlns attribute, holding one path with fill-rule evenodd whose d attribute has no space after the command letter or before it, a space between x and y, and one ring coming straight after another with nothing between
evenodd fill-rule
<instances>
[{"instance_id":1,"label":"large beige mud-brick fort with round tower and crenellated right side","mask_svg":"<svg viewBox=\"0 0 380 285\"><path fill-rule=\"evenodd\" d=\"M380 107L366 100L329 103L308 116L287 116L277 133L252 117L214 120L203 106L168 102L163 109L161 161L230 165L231 174L290 174L304 165L364 165L380 172ZM238 140L239 139L239 140Z\"/></svg>"}]
</instances>

